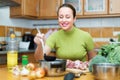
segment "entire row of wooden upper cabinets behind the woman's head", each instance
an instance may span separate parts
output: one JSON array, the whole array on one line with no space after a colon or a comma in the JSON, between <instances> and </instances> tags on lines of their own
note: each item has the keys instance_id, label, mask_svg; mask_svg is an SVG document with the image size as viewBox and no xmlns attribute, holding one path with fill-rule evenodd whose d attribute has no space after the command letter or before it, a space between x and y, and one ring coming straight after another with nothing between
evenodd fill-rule
<instances>
[{"instance_id":1,"label":"entire row of wooden upper cabinets behind the woman's head","mask_svg":"<svg viewBox=\"0 0 120 80\"><path fill-rule=\"evenodd\" d=\"M58 7L72 4L77 18L120 16L120 0L14 0L20 6L10 7L10 17L57 19ZM114 15L113 15L114 14Z\"/></svg>"}]
</instances>

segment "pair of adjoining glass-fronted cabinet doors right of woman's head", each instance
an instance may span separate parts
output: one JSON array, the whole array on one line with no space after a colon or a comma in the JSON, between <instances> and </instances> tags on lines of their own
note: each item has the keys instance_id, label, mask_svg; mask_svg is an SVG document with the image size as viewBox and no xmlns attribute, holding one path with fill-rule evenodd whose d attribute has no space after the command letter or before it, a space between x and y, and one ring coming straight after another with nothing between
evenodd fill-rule
<instances>
[{"instance_id":1,"label":"pair of adjoining glass-fronted cabinet doors right of woman's head","mask_svg":"<svg viewBox=\"0 0 120 80\"><path fill-rule=\"evenodd\" d=\"M63 3L72 4L78 17L108 14L108 0L63 0Z\"/></svg>"}]
</instances>

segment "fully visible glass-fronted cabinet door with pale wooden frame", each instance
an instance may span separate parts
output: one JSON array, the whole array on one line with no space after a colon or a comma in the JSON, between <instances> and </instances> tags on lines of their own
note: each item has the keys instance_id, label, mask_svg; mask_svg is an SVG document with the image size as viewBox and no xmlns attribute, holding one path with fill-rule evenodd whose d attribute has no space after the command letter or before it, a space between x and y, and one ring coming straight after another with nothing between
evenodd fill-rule
<instances>
[{"instance_id":1,"label":"fully visible glass-fronted cabinet door with pale wooden frame","mask_svg":"<svg viewBox=\"0 0 120 80\"><path fill-rule=\"evenodd\" d=\"M107 14L108 0L84 0L84 15Z\"/></svg>"}]
</instances>

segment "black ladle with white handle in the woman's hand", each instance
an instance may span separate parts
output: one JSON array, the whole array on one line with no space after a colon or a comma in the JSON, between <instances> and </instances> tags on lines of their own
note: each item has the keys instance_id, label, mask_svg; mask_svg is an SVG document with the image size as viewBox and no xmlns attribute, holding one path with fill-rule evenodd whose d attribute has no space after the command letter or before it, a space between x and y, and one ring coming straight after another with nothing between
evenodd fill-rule
<instances>
[{"instance_id":1,"label":"black ladle with white handle in the woman's hand","mask_svg":"<svg viewBox=\"0 0 120 80\"><path fill-rule=\"evenodd\" d=\"M37 31L39 34L41 34L40 30L36 27ZM56 57L55 56L47 56L46 55L46 52L45 52L45 46L44 46L44 41L42 39L40 39L41 43L42 43L42 48L43 48L43 53L44 53L44 59L46 61L54 61L56 60Z\"/></svg>"}]
</instances>

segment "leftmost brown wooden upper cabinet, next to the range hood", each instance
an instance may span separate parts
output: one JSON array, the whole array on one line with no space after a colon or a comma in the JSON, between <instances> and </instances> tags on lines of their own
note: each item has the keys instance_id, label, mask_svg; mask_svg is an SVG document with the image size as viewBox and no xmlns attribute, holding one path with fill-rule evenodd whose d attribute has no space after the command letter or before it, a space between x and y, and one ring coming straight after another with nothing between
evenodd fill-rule
<instances>
[{"instance_id":1,"label":"leftmost brown wooden upper cabinet, next to the range hood","mask_svg":"<svg viewBox=\"0 0 120 80\"><path fill-rule=\"evenodd\" d=\"M10 7L10 17L38 17L39 0L14 0L20 6Z\"/></svg>"}]
</instances>

